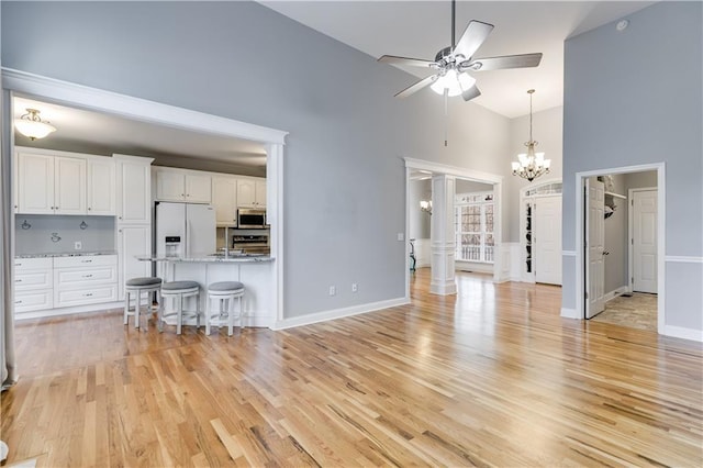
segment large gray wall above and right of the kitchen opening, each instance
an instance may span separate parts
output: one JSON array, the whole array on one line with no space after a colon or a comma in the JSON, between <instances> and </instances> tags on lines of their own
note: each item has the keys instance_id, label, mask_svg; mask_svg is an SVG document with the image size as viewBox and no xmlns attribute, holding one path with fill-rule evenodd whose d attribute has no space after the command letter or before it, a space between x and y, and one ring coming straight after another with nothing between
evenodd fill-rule
<instances>
[{"instance_id":1,"label":"large gray wall above and right of the kitchen opening","mask_svg":"<svg viewBox=\"0 0 703 468\"><path fill-rule=\"evenodd\" d=\"M258 3L0 8L5 67L290 132L286 317L404 296L402 157L510 176L510 120L451 100L445 147L442 99L393 98L416 78Z\"/></svg>"}]
</instances>

